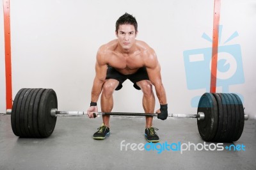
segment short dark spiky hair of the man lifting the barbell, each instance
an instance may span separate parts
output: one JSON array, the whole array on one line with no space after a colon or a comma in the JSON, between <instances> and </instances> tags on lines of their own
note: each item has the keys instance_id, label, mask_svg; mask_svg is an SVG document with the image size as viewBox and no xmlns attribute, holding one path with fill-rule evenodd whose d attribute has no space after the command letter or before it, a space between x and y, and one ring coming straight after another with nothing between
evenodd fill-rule
<instances>
[{"instance_id":1,"label":"short dark spiky hair of the man lifting the barbell","mask_svg":"<svg viewBox=\"0 0 256 170\"><path fill-rule=\"evenodd\" d=\"M116 32L118 31L119 26L123 25L123 24L131 24L132 26L134 26L135 31L136 32L138 31L137 21L136 21L135 17L133 17L129 13L125 13L118 20L116 20Z\"/></svg>"}]
</instances>

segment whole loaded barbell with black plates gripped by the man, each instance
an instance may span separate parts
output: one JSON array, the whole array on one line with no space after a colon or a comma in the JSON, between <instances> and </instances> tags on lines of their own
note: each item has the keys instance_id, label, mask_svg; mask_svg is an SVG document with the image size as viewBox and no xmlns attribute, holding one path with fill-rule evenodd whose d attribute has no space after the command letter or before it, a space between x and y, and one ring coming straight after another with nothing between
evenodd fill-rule
<instances>
[{"instance_id":1,"label":"whole loaded barbell with black plates gripped by the man","mask_svg":"<svg viewBox=\"0 0 256 170\"><path fill-rule=\"evenodd\" d=\"M53 89L22 88L13 101L11 114L13 133L19 137L49 137L58 116L87 116L83 111L58 111L57 95ZM112 116L157 116L156 113L95 112ZM244 114L241 99L234 93L204 93L197 114L169 114L168 118L196 118L204 141L233 142L243 133Z\"/></svg>"}]
</instances>

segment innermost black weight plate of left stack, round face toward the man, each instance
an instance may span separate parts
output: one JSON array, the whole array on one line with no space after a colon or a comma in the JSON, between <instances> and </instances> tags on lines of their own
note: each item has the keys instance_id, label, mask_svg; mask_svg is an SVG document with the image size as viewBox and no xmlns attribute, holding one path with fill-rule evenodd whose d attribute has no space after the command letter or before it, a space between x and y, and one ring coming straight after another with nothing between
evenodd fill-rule
<instances>
[{"instance_id":1,"label":"innermost black weight plate of left stack, round face toward the man","mask_svg":"<svg viewBox=\"0 0 256 170\"><path fill-rule=\"evenodd\" d=\"M49 137L56 125L56 117L51 116L51 109L58 109L57 96L53 89L45 89L38 109L38 129L42 137Z\"/></svg>"}]
</instances>

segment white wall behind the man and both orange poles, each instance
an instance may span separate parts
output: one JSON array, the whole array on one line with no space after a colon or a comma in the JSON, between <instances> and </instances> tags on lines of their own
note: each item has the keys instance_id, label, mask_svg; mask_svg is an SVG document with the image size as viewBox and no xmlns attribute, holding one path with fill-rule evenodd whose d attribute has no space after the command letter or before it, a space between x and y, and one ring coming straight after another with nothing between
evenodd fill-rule
<instances>
[{"instance_id":1,"label":"white wall behind the man and both orange poles","mask_svg":"<svg viewBox=\"0 0 256 170\"><path fill-rule=\"evenodd\" d=\"M243 52L245 82L230 86L230 92L241 93L246 111L252 112L255 3L221 3L223 36L237 31L234 43L241 45ZM157 52L169 112L195 114L191 98L207 89L188 89L183 52L211 47L201 36L212 37L213 5L213 0L12 1L13 98L20 88L53 88L59 110L85 111L90 104L97 49L115 38L116 20L128 12L138 21L138 40ZM113 111L143 112L141 97L141 91L126 81L122 90L115 92ZM158 105L157 100L156 109ZM0 111L4 110L1 105Z\"/></svg>"}]
</instances>

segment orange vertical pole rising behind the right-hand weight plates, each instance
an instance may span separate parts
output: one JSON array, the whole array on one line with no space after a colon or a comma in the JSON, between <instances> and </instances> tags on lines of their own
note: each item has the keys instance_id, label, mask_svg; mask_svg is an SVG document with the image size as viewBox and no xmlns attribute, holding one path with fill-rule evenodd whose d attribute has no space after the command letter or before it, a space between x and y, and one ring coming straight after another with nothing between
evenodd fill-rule
<instances>
[{"instance_id":1,"label":"orange vertical pole rising behind the right-hand weight plates","mask_svg":"<svg viewBox=\"0 0 256 170\"><path fill-rule=\"evenodd\" d=\"M211 85L210 85L211 93L216 93L219 26L220 26L220 0L214 0L214 18L213 18L213 33L212 33L212 65L211 65Z\"/></svg>"}]
</instances>

